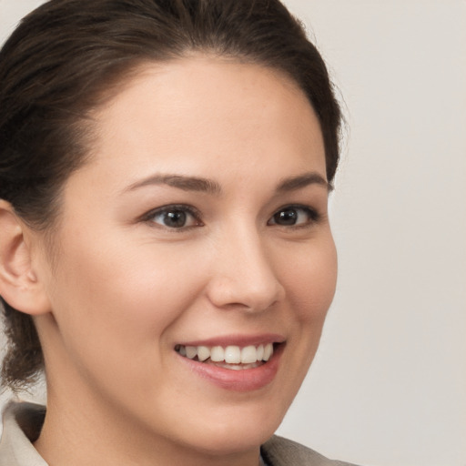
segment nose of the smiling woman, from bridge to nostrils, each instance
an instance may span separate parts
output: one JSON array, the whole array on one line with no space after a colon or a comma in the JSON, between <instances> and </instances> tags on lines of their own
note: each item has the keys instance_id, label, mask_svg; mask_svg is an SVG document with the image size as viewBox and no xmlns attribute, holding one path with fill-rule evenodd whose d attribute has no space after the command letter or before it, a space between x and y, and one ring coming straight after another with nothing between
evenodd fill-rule
<instances>
[{"instance_id":1,"label":"nose of the smiling woman, from bridge to nostrils","mask_svg":"<svg viewBox=\"0 0 466 466\"><path fill-rule=\"evenodd\" d=\"M258 232L228 235L213 258L208 298L221 309L266 310L285 294L273 266Z\"/></svg>"}]
</instances>

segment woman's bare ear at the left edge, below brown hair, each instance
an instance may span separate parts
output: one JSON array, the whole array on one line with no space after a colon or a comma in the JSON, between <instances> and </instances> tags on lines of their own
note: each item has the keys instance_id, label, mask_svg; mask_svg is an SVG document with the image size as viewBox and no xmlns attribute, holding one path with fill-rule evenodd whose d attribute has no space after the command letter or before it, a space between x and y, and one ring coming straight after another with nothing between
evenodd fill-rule
<instances>
[{"instance_id":1,"label":"woman's bare ear at the left edge, below brown hair","mask_svg":"<svg viewBox=\"0 0 466 466\"><path fill-rule=\"evenodd\" d=\"M11 204L0 199L0 296L12 308L37 316L50 311L50 302L32 266L25 229Z\"/></svg>"}]
</instances>

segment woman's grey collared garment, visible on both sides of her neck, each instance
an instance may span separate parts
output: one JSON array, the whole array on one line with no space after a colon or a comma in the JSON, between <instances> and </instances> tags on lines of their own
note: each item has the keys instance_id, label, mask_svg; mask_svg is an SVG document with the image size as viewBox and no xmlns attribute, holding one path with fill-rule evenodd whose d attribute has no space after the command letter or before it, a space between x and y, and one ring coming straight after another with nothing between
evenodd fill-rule
<instances>
[{"instance_id":1,"label":"woman's grey collared garment, visible on both sides of her neck","mask_svg":"<svg viewBox=\"0 0 466 466\"><path fill-rule=\"evenodd\" d=\"M33 403L9 403L4 411L0 441L0 466L47 466L32 442L40 434L46 407ZM351 466L331 461L299 443L274 435L260 448L267 466Z\"/></svg>"}]
</instances>

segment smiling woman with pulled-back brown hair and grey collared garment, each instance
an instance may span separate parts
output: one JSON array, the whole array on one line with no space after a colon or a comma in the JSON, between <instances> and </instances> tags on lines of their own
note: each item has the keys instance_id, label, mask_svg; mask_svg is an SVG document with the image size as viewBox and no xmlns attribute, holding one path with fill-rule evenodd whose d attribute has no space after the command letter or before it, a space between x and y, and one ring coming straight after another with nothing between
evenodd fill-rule
<instances>
[{"instance_id":1,"label":"smiling woman with pulled-back brown hair and grey collared garment","mask_svg":"<svg viewBox=\"0 0 466 466\"><path fill-rule=\"evenodd\" d=\"M0 63L2 380L47 386L0 464L341 464L272 437L337 268L339 106L285 7L52 0Z\"/></svg>"}]
</instances>

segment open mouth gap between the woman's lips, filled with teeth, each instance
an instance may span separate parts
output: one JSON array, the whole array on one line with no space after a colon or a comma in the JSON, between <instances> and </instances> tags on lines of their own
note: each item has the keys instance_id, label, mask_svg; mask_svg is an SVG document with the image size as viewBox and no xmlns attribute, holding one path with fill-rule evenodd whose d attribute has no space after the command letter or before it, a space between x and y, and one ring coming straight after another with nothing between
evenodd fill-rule
<instances>
[{"instance_id":1,"label":"open mouth gap between the woman's lips, filled with teeth","mask_svg":"<svg viewBox=\"0 0 466 466\"><path fill-rule=\"evenodd\" d=\"M184 346L177 345L178 354L189 360L217 366L229 370L247 370L264 365L273 355L274 346L279 343L266 343L258 346Z\"/></svg>"}]
</instances>

